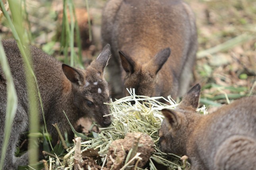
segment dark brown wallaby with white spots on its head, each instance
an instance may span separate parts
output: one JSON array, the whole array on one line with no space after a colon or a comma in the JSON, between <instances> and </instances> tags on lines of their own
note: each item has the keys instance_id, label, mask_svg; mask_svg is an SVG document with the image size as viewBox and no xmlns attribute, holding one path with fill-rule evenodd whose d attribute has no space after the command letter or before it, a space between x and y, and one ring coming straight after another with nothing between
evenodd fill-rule
<instances>
[{"instance_id":1,"label":"dark brown wallaby with white spots on its head","mask_svg":"<svg viewBox=\"0 0 256 170\"><path fill-rule=\"evenodd\" d=\"M26 158L15 158L14 152L20 134L28 130L29 101L23 60L17 43L15 40L4 40L2 43L18 97L4 169L17 169L17 165L27 164ZM29 48L42 97L46 126L52 135L53 143L57 142L58 134L52 124L58 123L62 133L71 130L64 111L73 125L83 116L94 118L101 127L111 124L109 116L103 117L110 113L109 106L103 104L110 100L108 84L104 79L104 68L110 57L110 45L104 47L102 53L86 70L62 64L37 47ZM2 150L6 114L6 79L2 68L0 68L0 94L0 150ZM41 111L39 113L40 123L43 124Z\"/></svg>"}]
</instances>

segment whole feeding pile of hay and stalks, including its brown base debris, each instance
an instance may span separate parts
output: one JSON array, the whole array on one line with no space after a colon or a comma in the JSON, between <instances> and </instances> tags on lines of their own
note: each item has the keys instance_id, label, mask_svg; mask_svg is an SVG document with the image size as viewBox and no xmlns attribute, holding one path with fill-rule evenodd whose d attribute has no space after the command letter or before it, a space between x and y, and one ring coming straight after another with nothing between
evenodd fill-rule
<instances>
[{"instance_id":1,"label":"whole feeding pile of hay and stalks, including its brown base debris","mask_svg":"<svg viewBox=\"0 0 256 170\"><path fill-rule=\"evenodd\" d=\"M113 158L110 156L111 154L117 155L117 153L115 153L117 152L117 148L114 147L113 149L112 146L114 141L120 139L123 140L128 133L134 133L134 136L136 136L137 132L141 132L140 134L150 136L152 139L153 152L151 152L152 154L150 153L151 155L149 155L147 162L143 162L143 165L146 164L146 169L184 169L184 165L182 165L181 160L179 160L180 157L173 154L166 154L160 151L160 145L158 142L158 130L160 129L162 120L164 119L164 116L160 110L163 108L173 109L177 106L177 104L175 104L171 98L168 98L167 100L164 99L169 103L169 105L158 102L157 100L160 98L162 97L149 98L147 96L136 96L133 92L131 93L131 96L121 98L114 102L111 101L109 105L113 118L112 124L109 127L100 128L101 132L98 134L94 133L94 138L91 140L81 142L80 139L76 139L75 146L71 147L69 153L64 157L65 163L58 162L58 160L56 160L57 162L54 162L55 168L57 163L58 165L62 165L58 168L64 168L63 164L66 164L66 167L68 166L69 168L72 168L73 166L76 168L78 166L77 169L83 167L84 169L89 170L114 170L125 168L134 169L135 166L137 169L142 169L137 167L139 161L136 163L136 160L143 160L141 159L139 152L134 153L134 148L136 146L131 147L129 152L125 151L124 147L121 146L123 152L127 154L125 155L125 161L123 161L123 165L118 165L118 168L115 168L114 165L111 164L107 166L107 160L110 160L112 163L114 163L116 162L116 159L119 159L117 157ZM132 105L130 101L135 101L135 104ZM206 113L205 108L201 108L201 111ZM139 138L146 138L143 135L141 135ZM129 136L133 136L133 134L130 134ZM125 138L123 141L127 143L129 142L127 138ZM136 145L136 138L131 139L130 142L132 142L133 145ZM141 145L143 144L138 140L137 147L141 147ZM77 152L75 150L77 150ZM109 152L110 150L112 150L112 153ZM134 163L135 166L131 166L131 164L129 164L130 160L136 163Z\"/></svg>"}]
</instances>

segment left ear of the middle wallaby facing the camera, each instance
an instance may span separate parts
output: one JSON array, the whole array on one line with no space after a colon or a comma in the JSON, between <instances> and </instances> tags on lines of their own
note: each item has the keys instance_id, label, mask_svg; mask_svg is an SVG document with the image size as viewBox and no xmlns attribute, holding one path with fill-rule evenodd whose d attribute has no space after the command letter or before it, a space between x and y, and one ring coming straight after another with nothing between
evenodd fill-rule
<instances>
[{"instance_id":1,"label":"left ear of the middle wallaby facing the camera","mask_svg":"<svg viewBox=\"0 0 256 170\"><path fill-rule=\"evenodd\" d=\"M125 72L133 74L135 67L135 62L133 59L131 59L131 57L126 55L123 51L119 51L119 55Z\"/></svg>"}]
</instances>

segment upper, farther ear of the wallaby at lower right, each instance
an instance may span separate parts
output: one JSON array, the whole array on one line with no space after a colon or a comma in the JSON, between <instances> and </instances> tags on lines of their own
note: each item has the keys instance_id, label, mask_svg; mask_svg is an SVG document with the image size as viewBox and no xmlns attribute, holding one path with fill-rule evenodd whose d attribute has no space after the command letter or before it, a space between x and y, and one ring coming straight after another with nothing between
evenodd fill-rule
<instances>
[{"instance_id":1,"label":"upper, farther ear of the wallaby at lower right","mask_svg":"<svg viewBox=\"0 0 256 170\"><path fill-rule=\"evenodd\" d=\"M199 84L194 85L194 87L192 87L192 89L190 89L190 91L183 97L179 104L179 108L192 106L192 108L196 109L198 107L200 90L201 86Z\"/></svg>"}]
</instances>

